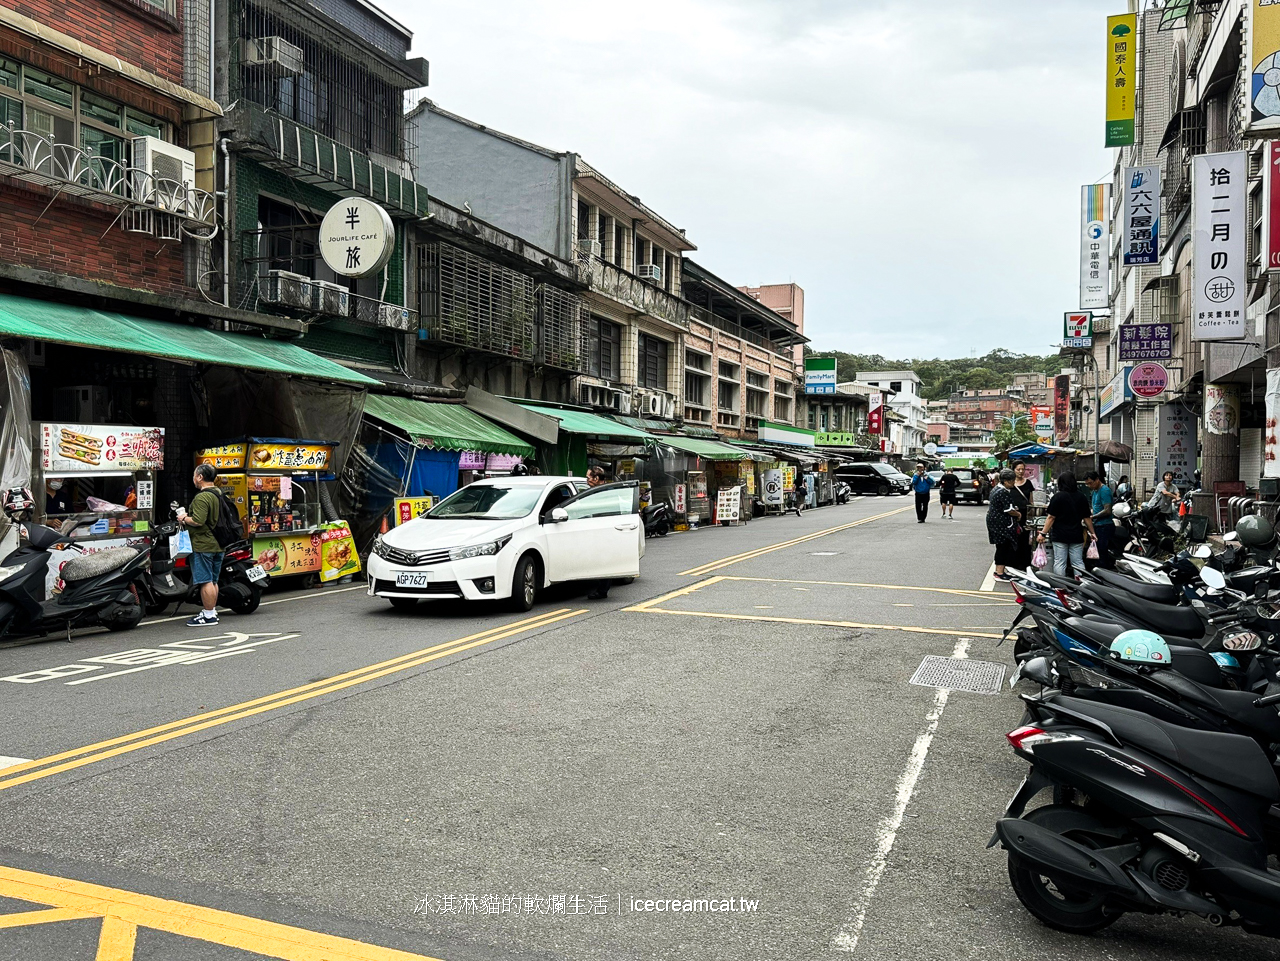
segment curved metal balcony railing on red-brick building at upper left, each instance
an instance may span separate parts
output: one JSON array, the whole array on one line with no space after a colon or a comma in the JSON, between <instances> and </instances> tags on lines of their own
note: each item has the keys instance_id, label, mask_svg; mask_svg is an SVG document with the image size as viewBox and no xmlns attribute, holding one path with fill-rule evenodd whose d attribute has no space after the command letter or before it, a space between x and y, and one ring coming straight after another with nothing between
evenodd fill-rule
<instances>
[{"instance_id":1,"label":"curved metal balcony railing on red-brick building at upper left","mask_svg":"<svg viewBox=\"0 0 1280 961\"><path fill-rule=\"evenodd\" d=\"M175 241L218 233L216 203L207 191L166 180L52 137L0 125L0 173L120 209L129 233Z\"/></svg>"}]
</instances>

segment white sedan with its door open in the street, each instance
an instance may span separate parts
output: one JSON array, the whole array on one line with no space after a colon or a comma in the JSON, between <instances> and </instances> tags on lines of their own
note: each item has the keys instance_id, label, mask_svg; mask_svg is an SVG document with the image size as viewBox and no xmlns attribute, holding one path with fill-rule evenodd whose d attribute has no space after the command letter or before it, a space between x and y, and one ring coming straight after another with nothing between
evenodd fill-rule
<instances>
[{"instance_id":1,"label":"white sedan with its door open in the street","mask_svg":"<svg viewBox=\"0 0 1280 961\"><path fill-rule=\"evenodd\" d=\"M465 598L529 610L552 584L636 577L641 557L635 481L588 488L581 477L493 477L379 535L369 594L396 608Z\"/></svg>"}]
</instances>

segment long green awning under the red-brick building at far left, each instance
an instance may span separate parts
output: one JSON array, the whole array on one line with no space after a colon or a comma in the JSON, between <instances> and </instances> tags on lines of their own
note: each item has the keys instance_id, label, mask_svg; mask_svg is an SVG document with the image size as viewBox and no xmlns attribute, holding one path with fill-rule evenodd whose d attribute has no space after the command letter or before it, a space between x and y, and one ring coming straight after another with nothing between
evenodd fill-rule
<instances>
[{"instance_id":1,"label":"long green awning under the red-brick building at far left","mask_svg":"<svg viewBox=\"0 0 1280 961\"><path fill-rule=\"evenodd\" d=\"M283 340L223 334L13 294L0 294L0 335L29 337L35 340L145 353L223 367L268 370L362 386L378 384L372 377Z\"/></svg>"}]
</instances>

